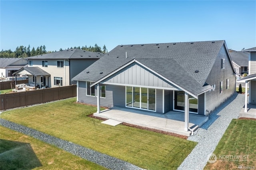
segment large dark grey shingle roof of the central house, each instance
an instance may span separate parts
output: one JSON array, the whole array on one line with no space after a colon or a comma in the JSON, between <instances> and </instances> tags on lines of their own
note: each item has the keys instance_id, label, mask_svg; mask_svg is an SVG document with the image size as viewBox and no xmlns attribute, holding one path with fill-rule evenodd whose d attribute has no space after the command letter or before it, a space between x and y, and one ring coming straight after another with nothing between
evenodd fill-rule
<instances>
[{"instance_id":1,"label":"large dark grey shingle roof of the central house","mask_svg":"<svg viewBox=\"0 0 256 170\"><path fill-rule=\"evenodd\" d=\"M134 61L142 63L190 93L199 95L212 88L206 84L206 79L223 45L226 47L224 40L118 45L73 79L98 81ZM196 70L199 72L195 73Z\"/></svg>"}]
</instances>

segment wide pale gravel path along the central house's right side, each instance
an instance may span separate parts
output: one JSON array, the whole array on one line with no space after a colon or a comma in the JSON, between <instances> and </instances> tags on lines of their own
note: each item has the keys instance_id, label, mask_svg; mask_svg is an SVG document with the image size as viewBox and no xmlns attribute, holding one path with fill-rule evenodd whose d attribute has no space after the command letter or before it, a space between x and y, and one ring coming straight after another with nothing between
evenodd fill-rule
<instances>
[{"instance_id":1,"label":"wide pale gravel path along the central house's right side","mask_svg":"<svg viewBox=\"0 0 256 170\"><path fill-rule=\"evenodd\" d=\"M206 122L188 140L198 142L196 147L182 162L178 170L202 170L208 162L208 155L214 152L232 119L237 119L244 105L244 95L235 94L216 109Z\"/></svg>"}]
</instances>

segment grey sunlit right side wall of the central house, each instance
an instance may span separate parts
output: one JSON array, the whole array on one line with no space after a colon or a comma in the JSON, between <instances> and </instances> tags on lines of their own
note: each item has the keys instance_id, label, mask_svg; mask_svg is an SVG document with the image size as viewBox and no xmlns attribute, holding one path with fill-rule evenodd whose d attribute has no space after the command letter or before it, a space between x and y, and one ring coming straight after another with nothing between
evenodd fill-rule
<instances>
[{"instance_id":1,"label":"grey sunlit right side wall of the central house","mask_svg":"<svg viewBox=\"0 0 256 170\"><path fill-rule=\"evenodd\" d=\"M225 68L222 69L222 59L225 59ZM226 89L227 79L229 79L229 88ZM220 93L220 82L223 82L223 92ZM224 48L224 45L220 49L216 61L210 71L210 74L206 80L209 85L215 84L214 91L206 92L206 115L214 111L219 105L221 105L226 99L232 96L236 91L236 76L234 74L232 65L228 59L228 53ZM200 99L200 98L199 98ZM199 101L201 102L201 101ZM200 108L199 108L200 109Z\"/></svg>"}]
</instances>

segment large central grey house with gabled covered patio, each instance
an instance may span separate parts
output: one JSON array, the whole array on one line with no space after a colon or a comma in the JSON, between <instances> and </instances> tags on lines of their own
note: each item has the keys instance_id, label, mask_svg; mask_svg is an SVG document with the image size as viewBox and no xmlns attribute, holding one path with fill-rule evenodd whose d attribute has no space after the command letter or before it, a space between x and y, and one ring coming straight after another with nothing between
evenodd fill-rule
<instances>
[{"instance_id":1,"label":"large central grey house with gabled covered patio","mask_svg":"<svg viewBox=\"0 0 256 170\"><path fill-rule=\"evenodd\" d=\"M208 115L236 91L224 40L118 45L73 80L77 101L97 105L97 113L100 106L181 111L185 126L188 108Z\"/></svg>"}]
</instances>

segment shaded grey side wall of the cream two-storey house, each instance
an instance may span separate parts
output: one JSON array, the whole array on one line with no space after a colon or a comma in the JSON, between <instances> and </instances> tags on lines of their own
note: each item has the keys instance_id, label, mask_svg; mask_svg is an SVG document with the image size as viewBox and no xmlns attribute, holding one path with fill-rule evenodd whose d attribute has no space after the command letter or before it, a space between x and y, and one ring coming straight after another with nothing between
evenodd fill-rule
<instances>
[{"instance_id":1,"label":"shaded grey side wall of the cream two-storey house","mask_svg":"<svg viewBox=\"0 0 256 170\"><path fill-rule=\"evenodd\" d=\"M72 78L97 60L98 59L70 59L70 84L76 84L76 81L72 81Z\"/></svg>"}]
</instances>

